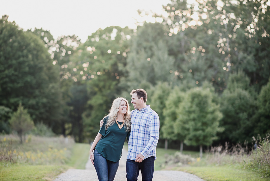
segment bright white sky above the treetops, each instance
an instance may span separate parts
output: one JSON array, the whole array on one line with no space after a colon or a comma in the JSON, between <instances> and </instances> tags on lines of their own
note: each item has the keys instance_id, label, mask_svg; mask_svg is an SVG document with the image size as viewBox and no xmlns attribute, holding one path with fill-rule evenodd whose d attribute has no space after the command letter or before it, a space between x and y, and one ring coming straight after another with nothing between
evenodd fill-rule
<instances>
[{"instance_id":1,"label":"bright white sky above the treetops","mask_svg":"<svg viewBox=\"0 0 270 181\"><path fill-rule=\"evenodd\" d=\"M0 0L0 16L7 14L23 28L49 30L53 38L77 35L85 42L99 28L136 28L137 10L161 13L168 0Z\"/></svg>"}]
</instances>

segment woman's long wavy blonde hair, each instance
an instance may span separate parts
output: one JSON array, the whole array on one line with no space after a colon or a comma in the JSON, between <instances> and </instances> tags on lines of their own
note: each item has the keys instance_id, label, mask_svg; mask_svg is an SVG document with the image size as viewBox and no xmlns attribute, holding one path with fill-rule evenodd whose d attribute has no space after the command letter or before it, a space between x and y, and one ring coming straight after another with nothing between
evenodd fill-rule
<instances>
[{"instance_id":1,"label":"woman's long wavy blonde hair","mask_svg":"<svg viewBox=\"0 0 270 181\"><path fill-rule=\"evenodd\" d=\"M109 114L108 114L108 120L107 120L107 124L105 126L105 130L108 129L108 127L110 127L111 125L113 125L117 119L117 113L119 111L119 107L121 105L121 101L125 101L127 104L127 110L126 110L126 114L124 115L124 127L126 129L126 131L130 130L131 127L131 120L130 120L130 110L129 110L129 102L123 98L123 97L118 97L113 101L113 104L109 110Z\"/></svg>"}]
</instances>

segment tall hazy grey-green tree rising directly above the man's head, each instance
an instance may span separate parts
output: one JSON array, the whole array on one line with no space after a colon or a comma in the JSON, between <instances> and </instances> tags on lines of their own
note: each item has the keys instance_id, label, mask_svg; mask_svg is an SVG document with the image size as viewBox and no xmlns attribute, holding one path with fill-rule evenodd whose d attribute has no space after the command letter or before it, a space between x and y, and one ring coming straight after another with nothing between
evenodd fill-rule
<instances>
[{"instance_id":1,"label":"tall hazy grey-green tree rising directly above the man's head","mask_svg":"<svg viewBox=\"0 0 270 181\"><path fill-rule=\"evenodd\" d=\"M145 23L138 27L127 58L126 69L129 72L121 81L127 83L131 90L138 87L146 90L159 81L173 81L174 59L168 56L164 33L164 26L159 23Z\"/></svg>"}]
</instances>

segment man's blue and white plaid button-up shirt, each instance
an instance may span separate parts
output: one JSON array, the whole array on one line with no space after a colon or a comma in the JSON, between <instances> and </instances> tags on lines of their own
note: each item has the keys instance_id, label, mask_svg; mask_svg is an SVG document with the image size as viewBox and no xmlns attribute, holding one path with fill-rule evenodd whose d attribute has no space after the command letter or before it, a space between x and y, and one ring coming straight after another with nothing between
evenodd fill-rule
<instances>
[{"instance_id":1,"label":"man's blue and white plaid button-up shirt","mask_svg":"<svg viewBox=\"0 0 270 181\"><path fill-rule=\"evenodd\" d=\"M131 111L131 132L129 136L127 159L135 160L141 153L144 159L157 158L156 146L159 138L160 120L149 105L146 108Z\"/></svg>"}]
</instances>

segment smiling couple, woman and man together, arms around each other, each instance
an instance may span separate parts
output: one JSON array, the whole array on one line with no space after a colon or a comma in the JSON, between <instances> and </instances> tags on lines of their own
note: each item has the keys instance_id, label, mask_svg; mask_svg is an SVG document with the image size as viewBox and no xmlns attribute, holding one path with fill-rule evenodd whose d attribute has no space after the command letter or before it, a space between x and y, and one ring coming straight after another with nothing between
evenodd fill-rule
<instances>
[{"instance_id":1,"label":"smiling couple, woman and man together, arms around each other","mask_svg":"<svg viewBox=\"0 0 270 181\"><path fill-rule=\"evenodd\" d=\"M113 101L108 116L100 121L101 128L90 148L98 180L113 180L122 156L124 142L128 140L126 159L127 180L152 180L156 146L159 138L159 117L146 105L147 93L143 89L132 90L129 110L125 98Z\"/></svg>"}]
</instances>

